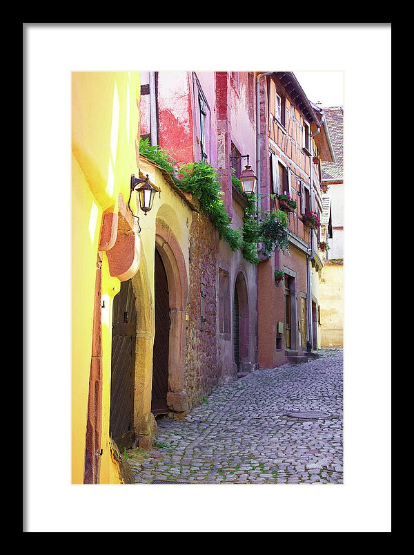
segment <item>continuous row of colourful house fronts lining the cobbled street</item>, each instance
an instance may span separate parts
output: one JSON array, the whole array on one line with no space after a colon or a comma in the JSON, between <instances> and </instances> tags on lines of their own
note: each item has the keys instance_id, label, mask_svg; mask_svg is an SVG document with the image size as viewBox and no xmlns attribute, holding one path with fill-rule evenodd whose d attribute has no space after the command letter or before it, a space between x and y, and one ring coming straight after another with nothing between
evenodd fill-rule
<instances>
[{"instance_id":1,"label":"continuous row of colourful house fronts lining the cobbled street","mask_svg":"<svg viewBox=\"0 0 414 555\"><path fill-rule=\"evenodd\" d=\"M228 377L315 347L322 263L304 216L322 210L331 149L322 112L288 72L76 73L72 118L72 480L124 483L120 453L149 449L158 417L180 420ZM176 169L214 169L227 235L151 148ZM255 218L281 208L282 192L297 202L288 250L253 242L254 261L234 243L245 165ZM155 193L149 211L137 179Z\"/></svg>"}]
</instances>

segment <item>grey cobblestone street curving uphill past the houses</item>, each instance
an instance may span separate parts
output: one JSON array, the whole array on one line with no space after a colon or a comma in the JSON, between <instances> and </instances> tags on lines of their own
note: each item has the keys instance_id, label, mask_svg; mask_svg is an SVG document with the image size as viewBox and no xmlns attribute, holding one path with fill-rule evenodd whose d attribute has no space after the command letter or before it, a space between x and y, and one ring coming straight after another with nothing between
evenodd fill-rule
<instances>
[{"instance_id":1,"label":"grey cobblestone street curving uphill past the houses","mask_svg":"<svg viewBox=\"0 0 414 555\"><path fill-rule=\"evenodd\" d=\"M343 481L342 349L233 378L181 422L158 421L151 451L124 456L137 484Z\"/></svg>"}]
</instances>

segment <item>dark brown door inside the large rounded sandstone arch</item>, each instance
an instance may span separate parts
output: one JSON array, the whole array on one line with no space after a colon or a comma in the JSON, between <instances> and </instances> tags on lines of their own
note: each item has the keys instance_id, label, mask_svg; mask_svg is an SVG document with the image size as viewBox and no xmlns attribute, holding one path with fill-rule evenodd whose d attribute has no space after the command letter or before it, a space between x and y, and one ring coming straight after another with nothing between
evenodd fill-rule
<instances>
[{"instance_id":1,"label":"dark brown door inside the large rounded sandstone arch","mask_svg":"<svg viewBox=\"0 0 414 555\"><path fill-rule=\"evenodd\" d=\"M168 350L170 337L170 301L167 274L161 256L155 250L155 338L152 354L152 414L168 413Z\"/></svg>"}]
</instances>

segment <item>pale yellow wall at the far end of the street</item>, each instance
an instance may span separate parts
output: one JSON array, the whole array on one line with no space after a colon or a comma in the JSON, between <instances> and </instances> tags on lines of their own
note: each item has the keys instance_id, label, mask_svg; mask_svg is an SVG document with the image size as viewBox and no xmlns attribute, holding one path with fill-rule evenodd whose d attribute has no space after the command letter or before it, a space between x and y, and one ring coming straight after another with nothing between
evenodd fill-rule
<instances>
[{"instance_id":1,"label":"pale yellow wall at the far end of the street","mask_svg":"<svg viewBox=\"0 0 414 555\"><path fill-rule=\"evenodd\" d=\"M325 265L319 282L322 347L344 343L344 266Z\"/></svg>"}]
</instances>

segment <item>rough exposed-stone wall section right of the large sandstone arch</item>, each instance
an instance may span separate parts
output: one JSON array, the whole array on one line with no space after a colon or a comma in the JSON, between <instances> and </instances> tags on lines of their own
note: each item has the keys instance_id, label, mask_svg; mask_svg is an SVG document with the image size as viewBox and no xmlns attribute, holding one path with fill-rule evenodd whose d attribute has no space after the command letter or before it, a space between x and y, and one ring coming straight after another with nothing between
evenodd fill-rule
<instances>
[{"instance_id":1,"label":"rough exposed-stone wall section right of the large sandstone arch","mask_svg":"<svg viewBox=\"0 0 414 555\"><path fill-rule=\"evenodd\" d=\"M190 289L184 378L189 408L200 404L203 396L208 395L219 380L216 301L218 241L217 230L207 216L197 214L190 227L189 245Z\"/></svg>"}]
</instances>

